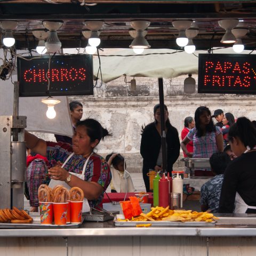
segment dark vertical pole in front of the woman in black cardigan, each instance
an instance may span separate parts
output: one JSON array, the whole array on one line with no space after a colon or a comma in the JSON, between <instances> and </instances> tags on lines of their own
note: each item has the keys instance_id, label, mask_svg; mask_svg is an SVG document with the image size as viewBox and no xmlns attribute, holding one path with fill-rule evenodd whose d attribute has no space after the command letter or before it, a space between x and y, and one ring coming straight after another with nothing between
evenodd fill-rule
<instances>
[{"instance_id":1,"label":"dark vertical pole in front of the woman in black cardigan","mask_svg":"<svg viewBox=\"0 0 256 256\"><path fill-rule=\"evenodd\" d=\"M167 152L166 152L166 133L164 122L164 85L163 78L158 78L159 87L159 103L160 103L160 118L161 118L161 141L162 141L162 158L163 158L163 173L167 175Z\"/></svg>"}]
</instances>

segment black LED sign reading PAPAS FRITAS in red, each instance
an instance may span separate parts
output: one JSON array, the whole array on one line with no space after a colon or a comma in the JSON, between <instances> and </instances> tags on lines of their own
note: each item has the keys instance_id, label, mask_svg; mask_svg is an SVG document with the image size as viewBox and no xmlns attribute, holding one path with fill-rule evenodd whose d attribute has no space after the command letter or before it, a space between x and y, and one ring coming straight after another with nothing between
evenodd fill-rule
<instances>
[{"instance_id":1,"label":"black LED sign reading PAPAS FRITAS in red","mask_svg":"<svg viewBox=\"0 0 256 256\"><path fill-rule=\"evenodd\" d=\"M198 93L256 94L256 57L199 54Z\"/></svg>"}]
</instances>

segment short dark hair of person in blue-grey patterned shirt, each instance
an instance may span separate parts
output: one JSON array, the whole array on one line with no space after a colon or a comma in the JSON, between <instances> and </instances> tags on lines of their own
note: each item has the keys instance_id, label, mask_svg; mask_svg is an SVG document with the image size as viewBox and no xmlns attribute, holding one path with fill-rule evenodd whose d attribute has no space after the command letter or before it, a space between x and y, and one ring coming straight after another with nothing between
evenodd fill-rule
<instances>
[{"instance_id":1,"label":"short dark hair of person in blue-grey patterned shirt","mask_svg":"<svg viewBox=\"0 0 256 256\"><path fill-rule=\"evenodd\" d=\"M212 171L219 175L225 172L228 164L231 162L231 159L227 153L218 152L213 153L209 161Z\"/></svg>"}]
</instances>

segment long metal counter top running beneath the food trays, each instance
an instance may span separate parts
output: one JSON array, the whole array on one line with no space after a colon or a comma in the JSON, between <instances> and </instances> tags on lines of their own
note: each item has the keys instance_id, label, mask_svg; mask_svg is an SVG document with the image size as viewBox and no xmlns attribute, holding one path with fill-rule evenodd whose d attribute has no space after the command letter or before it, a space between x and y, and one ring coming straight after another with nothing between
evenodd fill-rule
<instances>
[{"instance_id":1,"label":"long metal counter top running beneath the food trays","mask_svg":"<svg viewBox=\"0 0 256 256\"><path fill-rule=\"evenodd\" d=\"M228 218L226 218L226 220L228 220ZM253 225L215 225L213 227L137 228L137 227L115 227L113 221L85 222L83 223L81 228L69 228L69 229L65 229L65 228L64 229L63 228L0 229L0 237L66 237L66 236L67 237L72 237L72 236L73 237L75 236L95 236L95 237L97 236L201 236L201 237L255 236L256 237L255 219L256 218L252 219ZM222 221L220 223L225 223L225 221Z\"/></svg>"}]
</instances>

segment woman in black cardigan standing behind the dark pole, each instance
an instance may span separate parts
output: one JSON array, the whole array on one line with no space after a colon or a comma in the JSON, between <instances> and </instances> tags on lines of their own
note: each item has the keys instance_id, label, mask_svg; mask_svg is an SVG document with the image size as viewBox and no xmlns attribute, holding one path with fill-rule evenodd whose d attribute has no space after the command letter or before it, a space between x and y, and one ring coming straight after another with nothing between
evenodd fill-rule
<instances>
[{"instance_id":1,"label":"woman in black cardigan standing behind the dark pole","mask_svg":"<svg viewBox=\"0 0 256 256\"><path fill-rule=\"evenodd\" d=\"M146 191L149 191L149 179L147 173L149 169L156 172L162 170L162 141L161 141L161 118L160 105L154 107L153 123L148 124L141 134L140 154L143 158L143 180ZM166 133L166 149L167 149L167 171L171 175L172 165L176 162L180 155L179 134L169 120L169 113L166 105L164 105L164 121Z\"/></svg>"}]
</instances>

